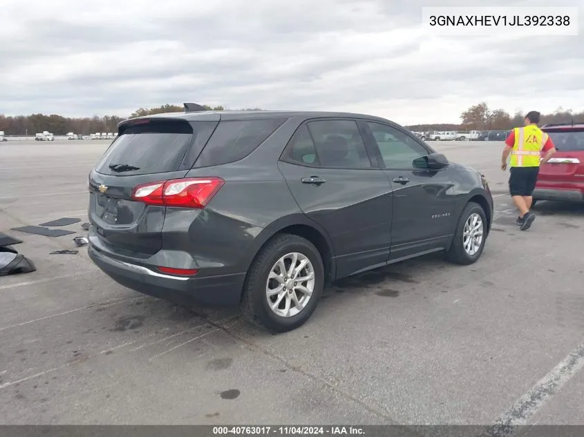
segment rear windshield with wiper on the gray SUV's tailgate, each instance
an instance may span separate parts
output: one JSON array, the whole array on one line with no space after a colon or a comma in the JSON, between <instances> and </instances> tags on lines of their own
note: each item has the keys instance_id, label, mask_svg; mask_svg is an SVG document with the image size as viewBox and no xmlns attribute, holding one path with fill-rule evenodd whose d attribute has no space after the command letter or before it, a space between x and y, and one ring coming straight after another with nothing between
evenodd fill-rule
<instances>
[{"instance_id":1,"label":"rear windshield with wiper on the gray SUV's tailgate","mask_svg":"<svg viewBox=\"0 0 584 437\"><path fill-rule=\"evenodd\" d=\"M120 127L95 167L104 175L146 175L191 168L216 122L147 120ZM190 161L190 162L189 162Z\"/></svg>"}]
</instances>

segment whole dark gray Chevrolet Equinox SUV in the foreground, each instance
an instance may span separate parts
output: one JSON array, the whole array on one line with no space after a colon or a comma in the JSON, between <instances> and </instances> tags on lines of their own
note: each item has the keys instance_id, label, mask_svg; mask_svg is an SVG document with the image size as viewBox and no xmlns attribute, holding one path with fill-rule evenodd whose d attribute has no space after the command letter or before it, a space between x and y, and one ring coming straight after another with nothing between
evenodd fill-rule
<instances>
[{"instance_id":1,"label":"whole dark gray Chevrolet Equinox SUV in the foreground","mask_svg":"<svg viewBox=\"0 0 584 437\"><path fill-rule=\"evenodd\" d=\"M88 177L88 253L118 283L301 326L332 281L444 251L478 260L478 171L352 113L191 110L126 120Z\"/></svg>"}]
</instances>

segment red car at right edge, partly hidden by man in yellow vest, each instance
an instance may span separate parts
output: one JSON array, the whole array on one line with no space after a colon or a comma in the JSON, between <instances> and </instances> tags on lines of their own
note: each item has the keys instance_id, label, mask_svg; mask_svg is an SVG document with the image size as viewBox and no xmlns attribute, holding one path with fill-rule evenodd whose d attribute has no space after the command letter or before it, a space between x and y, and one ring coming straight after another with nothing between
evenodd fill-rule
<instances>
[{"instance_id":1,"label":"red car at right edge, partly hidden by man in yellow vest","mask_svg":"<svg viewBox=\"0 0 584 437\"><path fill-rule=\"evenodd\" d=\"M557 153L540 167L533 193L537 200L584 201L584 124L546 124Z\"/></svg>"}]
</instances>

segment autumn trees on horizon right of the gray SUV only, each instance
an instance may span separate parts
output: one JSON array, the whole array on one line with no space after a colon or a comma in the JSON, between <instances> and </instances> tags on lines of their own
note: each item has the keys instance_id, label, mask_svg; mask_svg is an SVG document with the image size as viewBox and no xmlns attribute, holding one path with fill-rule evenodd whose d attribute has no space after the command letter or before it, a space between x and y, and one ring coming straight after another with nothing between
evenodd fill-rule
<instances>
[{"instance_id":1,"label":"autumn trees on horizon right of the gray SUV only","mask_svg":"<svg viewBox=\"0 0 584 437\"><path fill-rule=\"evenodd\" d=\"M517 111L511 116L504 109L491 110L487 103L482 101L462 111L462 114L460 114L460 124L416 124L407 127L416 132L433 130L511 130L518 126L523 126L524 119L525 113L521 111ZM542 114L540 126L548 123L569 123L572 120L574 123L584 122L584 111L574 113L572 109L560 107L554 113Z\"/></svg>"}]
</instances>

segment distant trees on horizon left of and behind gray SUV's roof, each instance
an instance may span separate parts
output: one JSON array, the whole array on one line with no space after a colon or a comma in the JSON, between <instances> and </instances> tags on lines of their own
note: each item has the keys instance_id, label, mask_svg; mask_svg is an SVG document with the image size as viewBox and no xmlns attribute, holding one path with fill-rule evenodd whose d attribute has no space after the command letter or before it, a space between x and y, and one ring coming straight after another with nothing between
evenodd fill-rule
<instances>
[{"instance_id":1,"label":"distant trees on horizon left of and behind gray SUV's roof","mask_svg":"<svg viewBox=\"0 0 584 437\"><path fill-rule=\"evenodd\" d=\"M223 106L203 105L206 110L225 110ZM32 114L6 117L0 114L0 130L4 135L30 135L48 132L53 135L67 135L73 132L79 135L89 135L97 132L117 132L117 124L124 119L142 117L143 115L155 115L161 113L182 113L185 110L182 105L162 105L157 108L139 108L129 117L117 115L104 115L103 117L79 117L70 118L62 115ZM245 110L259 110L259 108L246 108Z\"/></svg>"}]
</instances>

